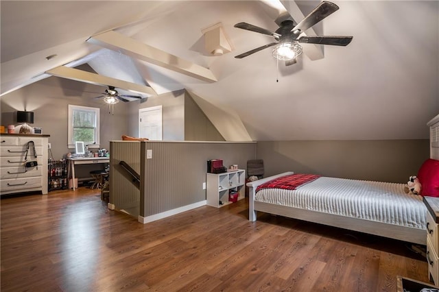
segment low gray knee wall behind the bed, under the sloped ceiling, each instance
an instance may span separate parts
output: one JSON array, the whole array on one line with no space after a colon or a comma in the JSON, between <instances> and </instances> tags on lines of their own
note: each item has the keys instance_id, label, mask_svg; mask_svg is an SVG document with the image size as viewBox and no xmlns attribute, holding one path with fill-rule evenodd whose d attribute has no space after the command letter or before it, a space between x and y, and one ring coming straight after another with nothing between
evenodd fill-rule
<instances>
[{"instance_id":1,"label":"low gray knee wall behind the bed, under the sloped ceiling","mask_svg":"<svg viewBox=\"0 0 439 292\"><path fill-rule=\"evenodd\" d=\"M405 183L429 158L429 141L262 141L257 158L265 176L294 171Z\"/></svg>"}]
</instances>

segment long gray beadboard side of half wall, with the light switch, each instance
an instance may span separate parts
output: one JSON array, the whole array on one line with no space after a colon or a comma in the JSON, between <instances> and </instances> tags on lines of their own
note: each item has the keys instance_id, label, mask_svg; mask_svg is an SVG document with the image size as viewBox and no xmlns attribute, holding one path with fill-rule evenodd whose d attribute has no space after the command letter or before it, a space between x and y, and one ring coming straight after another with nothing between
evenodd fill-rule
<instances>
[{"instance_id":1,"label":"long gray beadboard side of half wall, with the light switch","mask_svg":"<svg viewBox=\"0 0 439 292\"><path fill-rule=\"evenodd\" d=\"M237 164L246 169L247 160L256 158L254 142L147 141L142 143L141 216L148 217L206 200L207 160L222 159L224 166ZM144 186L144 188L143 188ZM144 193L142 193L144 192Z\"/></svg>"}]
</instances>

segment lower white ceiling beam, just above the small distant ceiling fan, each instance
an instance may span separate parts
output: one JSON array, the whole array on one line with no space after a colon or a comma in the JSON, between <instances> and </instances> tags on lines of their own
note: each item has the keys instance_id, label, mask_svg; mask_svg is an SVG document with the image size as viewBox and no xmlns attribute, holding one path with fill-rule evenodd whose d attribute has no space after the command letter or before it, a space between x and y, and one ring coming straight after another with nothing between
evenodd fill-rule
<instances>
[{"instance_id":1,"label":"lower white ceiling beam, just above the small distant ceiling fan","mask_svg":"<svg viewBox=\"0 0 439 292\"><path fill-rule=\"evenodd\" d=\"M75 68L69 68L67 66L59 66L54 69L50 69L45 73L62 77L70 80L85 82L89 84L95 84L100 86L115 86L124 90L128 90L133 93L145 93L147 95L157 95L154 89L149 86L127 82L124 80L99 75Z\"/></svg>"}]
</instances>

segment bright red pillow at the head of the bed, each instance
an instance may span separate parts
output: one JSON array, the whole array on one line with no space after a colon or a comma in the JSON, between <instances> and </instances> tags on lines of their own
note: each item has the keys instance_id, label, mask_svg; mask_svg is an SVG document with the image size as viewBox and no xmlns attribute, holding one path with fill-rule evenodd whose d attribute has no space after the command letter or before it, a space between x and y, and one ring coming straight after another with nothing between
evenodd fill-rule
<instances>
[{"instance_id":1,"label":"bright red pillow at the head of the bed","mask_svg":"<svg viewBox=\"0 0 439 292\"><path fill-rule=\"evenodd\" d=\"M425 160L418 171L418 179L423 186L420 195L439 197L439 160Z\"/></svg>"}]
</instances>

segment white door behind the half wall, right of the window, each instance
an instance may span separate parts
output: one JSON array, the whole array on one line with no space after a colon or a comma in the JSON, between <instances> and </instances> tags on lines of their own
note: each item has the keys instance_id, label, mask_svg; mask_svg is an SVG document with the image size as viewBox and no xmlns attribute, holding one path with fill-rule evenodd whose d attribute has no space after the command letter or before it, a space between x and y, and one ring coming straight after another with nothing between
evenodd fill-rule
<instances>
[{"instance_id":1,"label":"white door behind the half wall, right of the window","mask_svg":"<svg viewBox=\"0 0 439 292\"><path fill-rule=\"evenodd\" d=\"M163 140L162 106L141 108L139 110L139 137L150 140Z\"/></svg>"}]
</instances>

